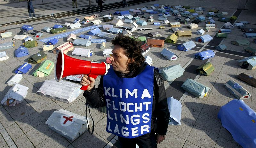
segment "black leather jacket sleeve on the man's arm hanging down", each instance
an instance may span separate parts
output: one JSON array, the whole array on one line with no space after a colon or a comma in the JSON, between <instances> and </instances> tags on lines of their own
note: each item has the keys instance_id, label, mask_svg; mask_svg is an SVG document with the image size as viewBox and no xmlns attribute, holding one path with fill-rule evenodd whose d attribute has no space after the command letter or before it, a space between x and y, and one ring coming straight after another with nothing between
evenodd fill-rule
<instances>
[{"instance_id":1,"label":"black leather jacket sleeve on the man's arm hanging down","mask_svg":"<svg viewBox=\"0 0 256 148\"><path fill-rule=\"evenodd\" d=\"M164 80L162 76L154 70L154 84L155 87L155 98L156 98L156 119L157 129L156 133L159 135L166 135L168 124L169 124L169 109L167 105L167 97L164 89Z\"/></svg>"}]
</instances>

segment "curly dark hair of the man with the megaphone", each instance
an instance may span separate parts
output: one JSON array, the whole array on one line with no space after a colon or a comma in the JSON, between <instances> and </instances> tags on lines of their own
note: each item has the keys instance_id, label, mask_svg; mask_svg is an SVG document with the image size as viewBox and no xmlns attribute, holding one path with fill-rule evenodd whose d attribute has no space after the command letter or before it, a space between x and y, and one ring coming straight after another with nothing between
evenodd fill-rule
<instances>
[{"instance_id":1,"label":"curly dark hair of the man with the megaphone","mask_svg":"<svg viewBox=\"0 0 256 148\"><path fill-rule=\"evenodd\" d=\"M134 71L144 63L145 58L142 56L141 42L135 41L134 38L123 34L117 34L112 41L113 45L120 45L124 48L124 54L130 59L128 68L130 71Z\"/></svg>"}]
</instances>

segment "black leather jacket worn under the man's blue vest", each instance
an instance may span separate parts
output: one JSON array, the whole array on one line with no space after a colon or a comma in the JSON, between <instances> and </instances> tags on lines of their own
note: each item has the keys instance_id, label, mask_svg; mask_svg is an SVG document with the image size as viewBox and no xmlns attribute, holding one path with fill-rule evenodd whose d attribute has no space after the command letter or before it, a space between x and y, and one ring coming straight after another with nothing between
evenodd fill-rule
<instances>
[{"instance_id":1,"label":"black leather jacket worn under the man's blue vest","mask_svg":"<svg viewBox=\"0 0 256 148\"><path fill-rule=\"evenodd\" d=\"M135 71L132 77L137 76L147 66L146 63L142 64L140 68ZM116 72L116 71L115 71ZM118 75L119 72L116 72ZM92 108L99 108L106 106L103 92L103 77L100 78L100 84L97 89L93 87L90 92L84 91L84 97L87 93L88 104ZM156 132L159 135L166 135L168 123L169 123L169 109L167 105L167 97L164 89L164 81L162 76L154 69L154 94L153 94L153 106L152 106L152 119L151 119L151 131Z\"/></svg>"}]
</instances>

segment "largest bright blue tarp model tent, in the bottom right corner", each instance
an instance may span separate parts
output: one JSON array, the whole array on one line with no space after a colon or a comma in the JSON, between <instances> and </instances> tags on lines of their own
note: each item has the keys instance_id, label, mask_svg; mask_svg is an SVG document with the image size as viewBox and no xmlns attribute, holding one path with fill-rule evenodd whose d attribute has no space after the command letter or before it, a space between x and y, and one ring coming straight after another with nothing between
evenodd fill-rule
<instances>
[{"instance_id":1,"label":"largest bright blue tarp model tent, in the bottom right corner","mask_svg":"<svg viewBox=\"0 0 256 148\"><path fill-rule=\"evenodd\" d=\"M234 99L222 106L218 118L243 148L256 147L256 113L243 100Z\"/></svg>"}]
</instances>

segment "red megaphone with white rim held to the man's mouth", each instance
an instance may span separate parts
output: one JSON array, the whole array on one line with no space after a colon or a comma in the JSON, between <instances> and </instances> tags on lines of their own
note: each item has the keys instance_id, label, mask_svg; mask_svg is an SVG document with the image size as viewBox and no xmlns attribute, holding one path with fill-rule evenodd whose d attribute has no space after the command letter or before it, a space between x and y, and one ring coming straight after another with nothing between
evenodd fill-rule
<instances>
[{"instance_id":1,"label":"red megaphone with white rim held to the man's mouth","mask_svg":"<svg viewBox=\"0 0 256 148\"><path fill-rule=\"evenodd\" d=\"M88 74L94 79L98 75L108 73L109 65L105 62L91 62L69 57L59 50L55 63L55 80L59 82L69 75ZM81 90L87 90L88 86L82 86Z\"/></svg>"}]
</instances>

